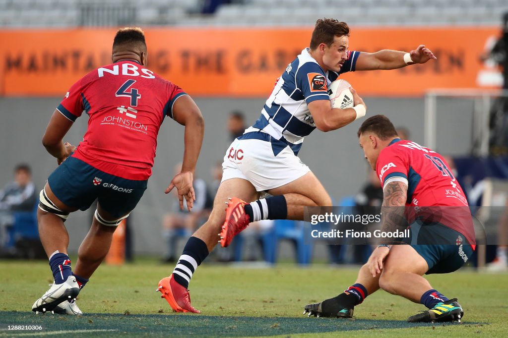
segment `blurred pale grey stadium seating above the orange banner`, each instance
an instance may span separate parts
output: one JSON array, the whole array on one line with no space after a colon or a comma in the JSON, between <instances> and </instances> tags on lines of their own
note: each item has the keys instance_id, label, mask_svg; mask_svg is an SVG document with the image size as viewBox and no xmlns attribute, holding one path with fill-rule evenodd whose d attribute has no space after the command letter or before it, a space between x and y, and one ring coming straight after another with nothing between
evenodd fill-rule
<instances>
[{"instance_id":1,"label":"blurred pale grey stadium seating above the orange banner","mask_svg":"<svg viewBox=\"0 0 508 338\"><path fill-rule=\"evenodd\" d=\"M506 0L236 0L201 15L200 0L0 0L0 27L295 26L318 17L351 25L498 25Z\"/></svg>"}]
</instances>

